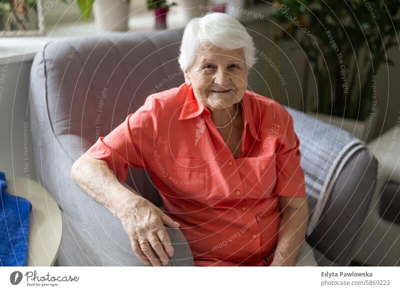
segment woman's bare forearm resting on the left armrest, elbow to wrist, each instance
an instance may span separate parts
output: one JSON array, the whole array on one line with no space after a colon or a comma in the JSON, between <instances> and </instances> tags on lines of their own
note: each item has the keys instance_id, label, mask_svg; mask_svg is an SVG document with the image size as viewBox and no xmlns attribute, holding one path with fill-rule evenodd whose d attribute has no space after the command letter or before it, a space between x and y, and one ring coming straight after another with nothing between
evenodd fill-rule
<instances>
[{"instance_id":1,"label":"woman's bare forearm resting on the left armrest, elbow to wrist","mask_svg":"<svg viewBox=\"0 0 400 291\"><path fill-rule=\"evenodd\" d=\"M73 163L71 178L117 218L120 218L118 213L126 203L135 203L142 199L118 181L105 161L88 154L83 154Z\"/></svg>"}]
</instances>

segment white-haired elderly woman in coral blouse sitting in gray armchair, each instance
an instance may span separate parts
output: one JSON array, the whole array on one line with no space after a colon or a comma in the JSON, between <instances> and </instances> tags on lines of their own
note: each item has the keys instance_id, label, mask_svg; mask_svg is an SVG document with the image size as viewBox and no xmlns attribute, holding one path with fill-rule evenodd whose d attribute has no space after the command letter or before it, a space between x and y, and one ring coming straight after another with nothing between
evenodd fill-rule
<instances>
[{"instance_id":1,"label":"white-haired elderly woman in coral blouse sitting in gray armchair","mask_svg":"<svg viewBox=\"0 0 400 291\"><path fill-rule=\"evenodd\" d=\"M198 266L296 264L308 215L299 140L282 105L246 89L254 62L236 19L193 18L180 47L185 82L149 95L73 164L73 180L121 220L143 263L168 263L168 226ZM128 166L146 168L167 214L118 181Z\"/></svg>"}]
</instances>

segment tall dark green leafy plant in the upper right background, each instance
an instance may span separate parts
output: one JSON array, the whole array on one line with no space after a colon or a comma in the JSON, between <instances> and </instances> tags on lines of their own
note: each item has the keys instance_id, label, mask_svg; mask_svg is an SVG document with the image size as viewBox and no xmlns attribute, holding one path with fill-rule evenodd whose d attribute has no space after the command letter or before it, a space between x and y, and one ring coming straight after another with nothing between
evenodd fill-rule
<instances>
[{"instance_id":1,"label":"tall dark green leafy plant in the upper right background","mask_svg":"<svg viewBox=\"0 0 400 291\"><path fill-rule=\"evenodd\" d=\"M355 123L375 113L377 71L392 64L385 51L400 30L398 0L275 0L274 6L271 18L284 28L275 39L295 39L312 67L311 111Z\"/></svg>"}]
</instances>

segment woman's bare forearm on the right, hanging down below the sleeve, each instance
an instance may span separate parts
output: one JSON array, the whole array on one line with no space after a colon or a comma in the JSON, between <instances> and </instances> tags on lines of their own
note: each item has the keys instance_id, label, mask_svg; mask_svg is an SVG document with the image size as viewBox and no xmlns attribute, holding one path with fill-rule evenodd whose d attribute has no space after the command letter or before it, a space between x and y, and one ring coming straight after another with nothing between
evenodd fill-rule
<instances>
[{"instance_id":1,"label":"woman's bare forearm on the right, hanging down below the sleeve","mask_svg":"<svg viewBox=\"0 0 400 291\"><path fill-rule=\"evenodd\" d=\"M284 197L288 199L292 197ZM278 241L273 255L271 266L294 266L304 241L308 224L308 206L304 199L293 198L297 202L281 203L282 217L280 220ZM289 206L289 204L294 204Z\"/></svg>"}]
</instances>

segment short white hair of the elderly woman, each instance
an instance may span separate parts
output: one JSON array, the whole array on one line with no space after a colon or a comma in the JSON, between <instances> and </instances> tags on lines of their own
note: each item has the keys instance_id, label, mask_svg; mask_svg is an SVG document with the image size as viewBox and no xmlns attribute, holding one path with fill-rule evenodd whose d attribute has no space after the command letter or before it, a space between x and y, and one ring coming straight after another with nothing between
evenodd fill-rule
<instances>
[{"instance_id":1,"label":"short white hair of the elderly woman","mask_svg":"<svg viewBox=\"0 0 400 291\"><path fill-rule=\"evenodd\" d=\"M234 17L220 12L208 12L192 18L186 25L179 50L179 66L189 69L196 58L197 49L204 43L226 50L243 48L244 61L250 69L257 58L253 39Z\"/></svg>"}]
</instances>

